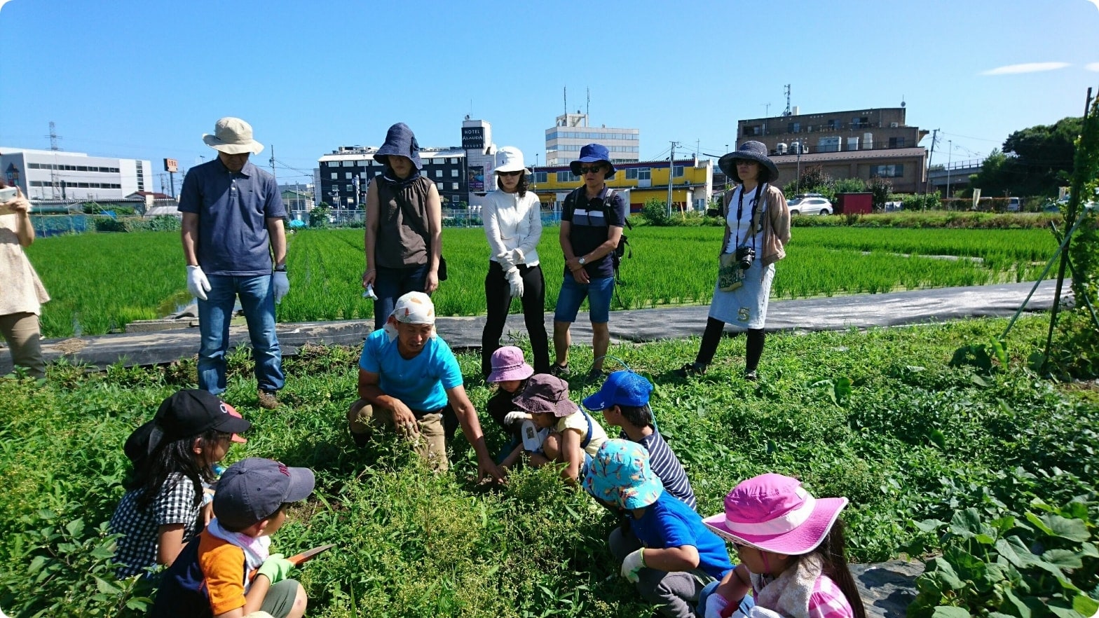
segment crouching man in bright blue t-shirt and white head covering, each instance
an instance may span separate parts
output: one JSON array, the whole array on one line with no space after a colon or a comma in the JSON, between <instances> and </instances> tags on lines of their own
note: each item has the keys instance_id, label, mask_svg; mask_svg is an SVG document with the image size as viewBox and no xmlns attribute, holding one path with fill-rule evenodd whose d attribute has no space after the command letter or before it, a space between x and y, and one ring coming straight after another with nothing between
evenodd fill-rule
<instances>
[{"instance_id":1,"label":"crouching man in bright blue t-shirt and white head covering","mask_svg":"<svg viewBox=\"0 0 1099 618\"><path fill-rule=\"evenodd\" d=\"M444 421L456 415L477 452L479 477L503 479L485 445L458 361L435 332L435 306L426 294L410 291L398 298L386 325L366 338L358 360L358 397L347 410L357 446L367 444L374 422L382 422L408 438L435 470L446 471Z\"/></svg>"}]
</instances>

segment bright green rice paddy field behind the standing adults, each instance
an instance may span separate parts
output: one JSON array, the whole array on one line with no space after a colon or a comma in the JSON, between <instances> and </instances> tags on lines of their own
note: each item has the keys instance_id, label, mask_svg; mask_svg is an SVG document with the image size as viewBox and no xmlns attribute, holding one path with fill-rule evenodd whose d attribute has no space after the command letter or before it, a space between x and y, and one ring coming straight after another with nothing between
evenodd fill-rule
<instances>
[{"instance_id":1,"label":"bright green rice paddy field behind the standing adults","mask_svg":"<svg viewBox=\"0 0 1099 618\"><path fill-rule=\"evenodd\" d=\"M633 257L623 260L614 309L710 301L720 228L645 227L629 235ZM303 230L289 241L290 294L278 308L279 321L373 317L359 284L362 230ZM796 228L771 294L808 298L1034 280L1054 249L1051 234L1035 229ZM47 338L121 330L190 300L178 232L55 236L40 239L27 253L53 297L42 314ZM445 229L443 254L449 279L434 297L439 313L482 313L484 232ZM552 311L564 273L556 228L545 229L539 255Z\"/></svg>"}]
</instances>

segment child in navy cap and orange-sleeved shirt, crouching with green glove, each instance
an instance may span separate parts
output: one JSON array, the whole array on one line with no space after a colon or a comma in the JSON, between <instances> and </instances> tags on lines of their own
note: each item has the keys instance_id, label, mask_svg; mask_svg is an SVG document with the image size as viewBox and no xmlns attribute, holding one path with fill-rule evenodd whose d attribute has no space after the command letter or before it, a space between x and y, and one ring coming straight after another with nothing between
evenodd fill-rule
<instances>
[{"instance_id":1,"label":"child in navy cap and orange-sleeved shirt, crouching with green glove","mask_svg":"<svg viewBox=\"0 0 1099 618\"><path fill-rule=\"evenodd\" d=\"M306 591L286 578L293 564L268 550L287 507L309 497L313 483L308 467L271 460L251 457L229 466L214 493L213 521L164 574L152 615L240 618L262 610L300 618Z\"/></svg>"}]
</instances>

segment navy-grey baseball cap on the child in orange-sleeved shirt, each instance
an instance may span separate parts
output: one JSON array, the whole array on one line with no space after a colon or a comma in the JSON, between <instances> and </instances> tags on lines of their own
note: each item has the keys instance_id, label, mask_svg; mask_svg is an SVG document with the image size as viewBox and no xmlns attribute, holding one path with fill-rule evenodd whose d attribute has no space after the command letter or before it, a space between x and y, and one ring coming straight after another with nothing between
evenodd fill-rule
<instances>
[{"instance_id":1,"label":"navy-grey baseball cap on the child in orange-sleeved shirt","mask_svg":"<svg viewBox=\"0 0 1099 618\"><path fill-rule=\"evenodd\" d=\"M269 518L285 503L313 493L313 471L274 460L248 457L221 474L213 493L213 515L226 530L243 530Z\"/></svg>"}]
</instances>

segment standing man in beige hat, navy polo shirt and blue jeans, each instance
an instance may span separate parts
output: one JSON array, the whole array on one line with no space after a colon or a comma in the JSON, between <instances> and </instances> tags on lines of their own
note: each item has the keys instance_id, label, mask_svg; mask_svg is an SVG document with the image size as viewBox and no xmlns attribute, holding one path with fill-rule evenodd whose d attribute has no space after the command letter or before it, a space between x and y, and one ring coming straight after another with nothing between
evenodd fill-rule
<instances>
[{"instance_id":1,"label":"standing man in beige hat, navy polo shirt and blue jeans","mask_svg":"<svg viewBox=\"0 0 1099 618\"><path fill-rule=\"evenodd\" d=\"M278 406L282 351L275 336L275 304L290 290L286 277L286 208L275 177L248 162L264 146L252 125L223 118L202 135L218 158L192 167L179 192L184 213L187 289L199 305L199 388L225 390L229 322L236 297L256 362L259 405ZM271 253L275 254L274 269Z\"/></svg>"}]
</instances>

